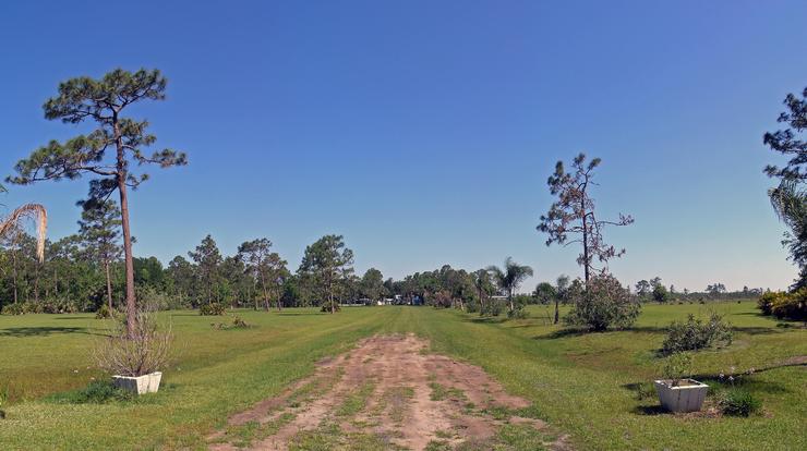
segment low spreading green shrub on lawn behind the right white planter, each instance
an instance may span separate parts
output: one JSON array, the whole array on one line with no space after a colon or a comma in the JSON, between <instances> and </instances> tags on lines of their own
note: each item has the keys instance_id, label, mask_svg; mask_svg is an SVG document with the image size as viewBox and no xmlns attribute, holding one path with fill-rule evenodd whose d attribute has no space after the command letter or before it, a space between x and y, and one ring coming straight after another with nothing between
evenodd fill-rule
<instances>
[{"instance_id":1,"label":"low spreading green shrub on lawn behind the right white planter","mask_svg":"<svg viewBox=\"0 0 807 451\"><path fill-rule=\"evenodd\" d=\"M661 345L663 354L682 351L697 351L713 344L732 344L732 327L723 317L712 313L709 321L695 319L689 314L686 322L674 321L667 329L667 337Z\"/></svg>"}]
</instances>

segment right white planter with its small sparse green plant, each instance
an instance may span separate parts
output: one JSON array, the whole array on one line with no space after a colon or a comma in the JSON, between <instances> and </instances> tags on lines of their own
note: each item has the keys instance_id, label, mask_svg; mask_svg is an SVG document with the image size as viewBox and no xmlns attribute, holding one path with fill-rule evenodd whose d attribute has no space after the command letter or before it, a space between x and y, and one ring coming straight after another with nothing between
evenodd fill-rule
<instances>
[{"instance_id":1,"label":"right white planter with its small sparse green plant","mask_svg":"<svg viewBox=\"0 0 807 451\"><path fill-rule=\"evenodd\" d=\"M654 382L661 406L670 412L699 411L709 386L690 378L692 356L683 352L671 355L662 373L664 379Z\"/></svg>"}]
</instances>

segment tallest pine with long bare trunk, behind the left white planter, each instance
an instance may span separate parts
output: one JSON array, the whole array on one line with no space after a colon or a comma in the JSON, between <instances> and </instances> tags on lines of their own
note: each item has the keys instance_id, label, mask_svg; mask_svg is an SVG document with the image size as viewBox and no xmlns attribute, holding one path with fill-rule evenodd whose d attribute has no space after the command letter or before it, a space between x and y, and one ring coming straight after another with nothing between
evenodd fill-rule
<instances>
[{"instance_id":1,"label":"tallest pine with long bare trunk, behind the left white planter","mask_svg":"<svg viewBox=\"0 0 807 451\"><path fill-rule=\"evenodd\" d=\"M146 156L143 151L156 141L148 134L147 121L123 117L128 107L141 100L165 99L166 78L159 71L129 72L116 69L100 80L87 76L71 78L59 85L59 95L43 108L45 118L77 124L94 121L98 127L64 143L51 141L16 163L11 183L31 184L43 180L77 179L91 174L89 202L107 199L116 191L120 196L123 252L127 271L127 330L135 333L134 264L129 226L128 188L136 188L148 176L135 174L130 164L158 164L160 168L186 163L185 155L164 149ZM108 151L110 150L111 151ZM113 156L107 158L109 154Z\"/></svg>"}]
</instances>

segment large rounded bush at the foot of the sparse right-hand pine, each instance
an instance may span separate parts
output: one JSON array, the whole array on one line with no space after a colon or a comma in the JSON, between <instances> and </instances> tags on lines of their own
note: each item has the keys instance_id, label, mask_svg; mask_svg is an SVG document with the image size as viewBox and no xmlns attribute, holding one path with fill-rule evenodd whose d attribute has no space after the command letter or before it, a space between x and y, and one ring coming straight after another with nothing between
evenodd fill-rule
<instances>
[{"instance_id":1,"label":"large rounded bush at the foot of the sparse right-hand pine","mask_svg":"<svg viewBox=\"0 0 807 451\"><path fill-rule=\"evenodd\" d=\"M603 331L609 327L633 325L640 310L639 302L615 277L600 275L589 280L586 289L576 295L575 306L564 320L570 326Z\"/></svg>"}]
</instances>

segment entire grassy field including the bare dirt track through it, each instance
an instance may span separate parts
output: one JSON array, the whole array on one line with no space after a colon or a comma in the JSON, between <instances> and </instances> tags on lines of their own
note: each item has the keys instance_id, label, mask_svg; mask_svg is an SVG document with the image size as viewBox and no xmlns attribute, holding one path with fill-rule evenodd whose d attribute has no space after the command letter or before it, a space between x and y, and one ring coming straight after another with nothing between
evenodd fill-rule
<instances>
[{"instance_id":1,"label":"entire grassy field including the bare dirt track through it","mask_svg":"<svg viewBox=\"0 0 807 451\"><path fill-rule=\"evenodd\" d=\"M657 406L665 326L709 308L732 322L734 343L697 353L696 378L714 393L719 374L755 368L738 383L762 401L759 415ZM106 320L0 316L0 449L807 449L799 324L750 301L646 305L630 330L589 334L549 325L546 307L529 313L238 310L252 327L218 330L231 318L167 312L176 355L160 392L104 403L75 393L103 378L91 350Z\"/></svg>"}]
</instances>

